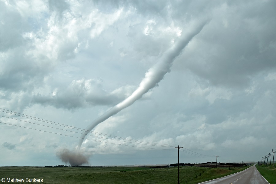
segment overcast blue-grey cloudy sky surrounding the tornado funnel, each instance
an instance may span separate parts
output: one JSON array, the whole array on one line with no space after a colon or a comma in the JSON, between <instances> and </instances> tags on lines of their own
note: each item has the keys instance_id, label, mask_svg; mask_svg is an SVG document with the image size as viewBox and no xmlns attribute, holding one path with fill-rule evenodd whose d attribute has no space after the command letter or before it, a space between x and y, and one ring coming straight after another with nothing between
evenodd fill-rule
<instances>
[{"instance_id":1,"label":"overcast blue-grey cloudy sky surrounding the tornado funnel","mask_svg":"<svg viewBox=\"0 0 276 184\"><path fill-rule=\"evenodd\" d=\"M199 24L154 88L93 129L120 138L91 133L85 165L177 163L177 145L181 163L260 160L276 146L275 9L274 0L0 0L0 166L69 165L59 152L81 136L3 109L84 129Z\"/></svg>"}]
</instances>

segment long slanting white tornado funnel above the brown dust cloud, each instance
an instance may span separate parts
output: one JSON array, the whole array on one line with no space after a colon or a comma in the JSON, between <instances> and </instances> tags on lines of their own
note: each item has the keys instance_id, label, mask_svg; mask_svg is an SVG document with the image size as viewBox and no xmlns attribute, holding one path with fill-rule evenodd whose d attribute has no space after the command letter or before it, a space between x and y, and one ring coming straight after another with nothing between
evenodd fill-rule
<instances>
[{"instance_id":1,"label":"long slanting white tornado funnel above the brown dust cloud","mask_svg":"<svg viewBox=\"0 0 276 184\"><path fill-rule=\"evenodd\" d=\"M164 52L163 56L159 59L159 61L151 67L146 73L144 79L139 84L139 87L124 101L119 104L113 106L107 112L102 114L100 117L91 122L90 125L86 127L86 131L82 132L82 136L79 139L79 144L77 147L77 152L79 152L83 140L93 128L107 120L109 117L117 114L122 109L127 108L132 105L136 100L140 99L145 93L158 85L158 83L164 78L164 75L171 70L171 66L173 61L177 56L179 56L182 50L186 47L186 45L201 32L206 22L201 22L199 24L191 25L187 30L182 31L182 35L180 38L174 42L172 47Z\"/></svg>"}]
</instances>

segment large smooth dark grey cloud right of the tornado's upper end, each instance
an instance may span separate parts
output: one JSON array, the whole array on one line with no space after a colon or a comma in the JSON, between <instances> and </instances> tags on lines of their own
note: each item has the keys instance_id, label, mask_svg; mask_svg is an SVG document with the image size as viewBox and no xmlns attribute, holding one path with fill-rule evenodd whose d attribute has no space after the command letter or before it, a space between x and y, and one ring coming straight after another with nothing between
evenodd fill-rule
<instances>
[{"instance_id":1,"label":"large smooth dark grey cloud right of the tornado's upper end","mask_svg":"<svg viewBox=\"0 0 276 184\"><path fill-rule=\"evenodd\" d=\"M275 70L276 37L271 32L276 29L272 21L275 11L266 9L274 3L218 6L200 35L202 39L193 44L197 50L186 49L183 57L188 59L182 62L182 67L207 79L211 85L227 87L248 86L252 76ZM252 8L256 9L254 13Z\"/></svg>"}]
</instances>

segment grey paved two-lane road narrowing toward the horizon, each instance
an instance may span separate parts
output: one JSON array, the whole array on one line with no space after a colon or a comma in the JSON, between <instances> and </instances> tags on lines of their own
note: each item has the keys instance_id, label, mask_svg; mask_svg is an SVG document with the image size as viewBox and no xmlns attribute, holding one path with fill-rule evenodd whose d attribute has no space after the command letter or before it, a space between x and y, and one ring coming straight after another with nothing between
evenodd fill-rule
<instances>
[{"instance_id":1,"label":"grey paved two-lane road narrowing toward the horizon","mask_svg":"<svg viewBox=\"0 0 276 184\"><path fill-rule=\"evenodd\" d=\"M255 165L244 171L229 176L213 179L201 184L268 184L265 178L259 173Z\"/></svg>"}]
</instances>

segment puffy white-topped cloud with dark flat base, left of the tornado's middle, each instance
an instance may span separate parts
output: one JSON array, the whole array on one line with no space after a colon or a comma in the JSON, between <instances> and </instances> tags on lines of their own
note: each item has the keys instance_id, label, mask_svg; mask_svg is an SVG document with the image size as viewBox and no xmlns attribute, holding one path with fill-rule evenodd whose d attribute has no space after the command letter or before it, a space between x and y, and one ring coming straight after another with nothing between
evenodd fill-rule
<instances>
[{"instance_id":1,"label":"puffy white-topped cloud with dark flat base, left of the tornado's middle","mask_svg":"<svg viewBox=\"0 0 276 184\"><path fill-rule=\"evenodd\" d=\"M56 108L76 109L94 105L114 105L125 99L133 91L133 86L125 86L107 92L101 79L74 80L66 90L58 89L49 95L36 94L32 103L53 105Z\"/></svg>"}]
</instances>

